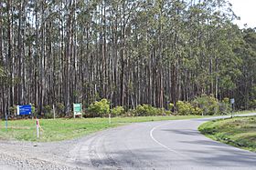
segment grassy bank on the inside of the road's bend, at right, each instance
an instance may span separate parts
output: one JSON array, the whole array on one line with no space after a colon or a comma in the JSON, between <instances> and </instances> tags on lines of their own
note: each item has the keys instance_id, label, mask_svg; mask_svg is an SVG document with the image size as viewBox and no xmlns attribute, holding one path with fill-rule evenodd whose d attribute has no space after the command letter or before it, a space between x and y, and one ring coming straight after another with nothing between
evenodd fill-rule
<instances>
[{"instance_id":1,"label":"grassy bank on the inside of the road's bend, at right","mask_svg":"<svg viewBox=\"0 0 256 170\"><path fill-rule=\"evenodd\" d=\"M210 121L198 130L213 140L256 152L256 116Z\"/></svg>"}]
</instances>

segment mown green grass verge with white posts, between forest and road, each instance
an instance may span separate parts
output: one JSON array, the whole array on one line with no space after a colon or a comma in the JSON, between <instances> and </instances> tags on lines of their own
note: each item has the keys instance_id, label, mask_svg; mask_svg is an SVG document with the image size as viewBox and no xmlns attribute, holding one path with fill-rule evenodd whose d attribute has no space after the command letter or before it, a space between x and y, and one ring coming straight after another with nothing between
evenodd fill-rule
<instances>
[{"instance_id":1,"label":"mown green grass verge with white posts, between forest and road","mask_svg":"<svg viewBox=\"0 0 256 170\"><path fill-rule=\"evenodd\" d=\"M108 118L77 118L77 119L40 119L42 127L40 137L37 139L36 120L8 121L8 129L5 130L5 121L0 121L0 139L50 142L73 139L82 135L101 131L118 125L126 125L136 122L163 121L198 118L199 115L180 116L142 116L142 117L114 117L109 125Z\"/></svg>"}]
</instances>

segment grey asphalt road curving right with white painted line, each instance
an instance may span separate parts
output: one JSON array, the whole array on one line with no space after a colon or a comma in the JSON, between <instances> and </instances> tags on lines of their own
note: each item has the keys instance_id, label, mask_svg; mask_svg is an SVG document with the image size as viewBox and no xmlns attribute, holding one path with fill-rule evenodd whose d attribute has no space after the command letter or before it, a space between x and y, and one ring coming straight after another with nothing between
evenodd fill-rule
<instances>
[{"instance_id":1,"label":"grey asphalt road curving right with white painted line","mask_svg":"<svg viewBox=\"0 0 256 170\"><path fill-rule=\"evenodd\" d=\"M80 139L67 163L81 169L256 169L256 153L212 141L197 131L211 119L106 130Z\"/></svg>"}]
</instances>

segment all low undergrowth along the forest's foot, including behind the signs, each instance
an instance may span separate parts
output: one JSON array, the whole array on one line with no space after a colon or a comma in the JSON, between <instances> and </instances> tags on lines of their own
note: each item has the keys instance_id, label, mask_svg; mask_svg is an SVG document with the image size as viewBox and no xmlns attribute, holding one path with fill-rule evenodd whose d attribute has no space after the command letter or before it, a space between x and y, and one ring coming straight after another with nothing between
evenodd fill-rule
<instances>
[{"instance_id":1,"label":"all low undergrowth along the forest's foot, including behind the signs","mask_svg":"<svg viewBox=\"0 0 256 170\"><path fill-rule=\"evenodd\" d=\"M70 118L73 116L72 111L69 115L64 114L65 105L55 105L55 109L50 105L43 106L43 112L37 114L37 109L32 105L33 115L39 118L53 118L54 113L57 117ZM91 103L83 109L84 117L108 117L112 116L159 116L159 115L227 115L231 112L229 98L218 100L213 95L200 95L190 102L177 101L176 104L169 103L167 108L159 108L153 105L136 105L133 109L120 105L112 106L112 103L103 98ZM16 115L16 105L9 108L10 119L24 118Z\"/></svg>"}]
</instances>

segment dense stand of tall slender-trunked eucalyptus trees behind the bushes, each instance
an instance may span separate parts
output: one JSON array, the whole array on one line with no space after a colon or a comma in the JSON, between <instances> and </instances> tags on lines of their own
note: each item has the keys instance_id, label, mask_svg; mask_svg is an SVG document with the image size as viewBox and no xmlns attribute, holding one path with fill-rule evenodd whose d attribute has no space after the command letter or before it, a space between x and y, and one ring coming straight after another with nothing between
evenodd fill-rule
<instances>
[{"instance_id":1,"label":"dense stand of tall slender-trunked eucalyptus trees behind the bushes","mask_svg":"<svg viewBox=\"0 0 256 170\"><path fill-rule=\"evenodd\" d=\"M256 29L227 0L0 0L0 114L14 105L256 101ZM251 106L252 104L252 106ZM256 105L256 102L255 102Z\"/></svg>"}]
</instances>

